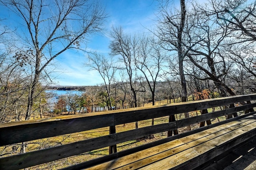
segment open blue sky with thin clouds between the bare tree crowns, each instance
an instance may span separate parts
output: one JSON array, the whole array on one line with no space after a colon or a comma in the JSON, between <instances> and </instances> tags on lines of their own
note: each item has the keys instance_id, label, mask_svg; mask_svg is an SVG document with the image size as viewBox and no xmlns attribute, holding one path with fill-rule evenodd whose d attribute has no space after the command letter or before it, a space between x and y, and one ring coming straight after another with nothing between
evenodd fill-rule
<instances>
[{"instance_id":1,"label":"open blue sky with thin clouds between the bare tree crowns","mask_svg":"<svg viewBox=\"0 0 256 170\"><path fill-rule=\"evenodd\" d=\"M100 0L100 3L106 6L109 16L105 24L107 31L105 35L92 37L87 49L106 55L110 51L108 33L112 26L122 26L126 33L147 31L144 27L150 28L153 24L158 4L156 0ZM67 51L55 61L62 71L56 79L59 85L90 86L103 82L97 71L88 71L89 68L83 66L86 57L82 53Z\"/></svg>"}]
</instances>

